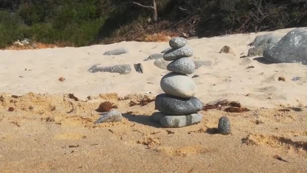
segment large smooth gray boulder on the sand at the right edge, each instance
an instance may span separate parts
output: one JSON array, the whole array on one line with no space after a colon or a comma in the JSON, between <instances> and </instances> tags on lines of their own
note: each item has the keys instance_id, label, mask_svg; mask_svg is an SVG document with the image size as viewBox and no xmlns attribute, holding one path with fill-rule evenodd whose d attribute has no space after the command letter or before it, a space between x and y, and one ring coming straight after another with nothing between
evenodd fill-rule
<instances>
[{"instance_id":1,"label":"large smooth gray boulder on the sand at the right edge","mask_svg":"<svg viewBox=\"0 0 307 173\"><path fill-rule=\"evenodd\" d=\"M271 63L302 63L307 65L307 29L298 28L287 33L273 47L264 51Z\"/></svg>"}]
</instances>

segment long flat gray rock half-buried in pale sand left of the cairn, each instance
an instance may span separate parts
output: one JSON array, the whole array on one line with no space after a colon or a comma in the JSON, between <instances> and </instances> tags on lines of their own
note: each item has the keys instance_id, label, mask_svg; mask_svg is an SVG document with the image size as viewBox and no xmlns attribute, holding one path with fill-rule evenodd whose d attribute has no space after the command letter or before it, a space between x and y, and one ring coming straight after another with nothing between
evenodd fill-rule
<instances>
[{"instance_id":1,"label":"long flat gray rock half-buried in pale sand left of the cairn","mask_svg":"<svg viewBox=\"0 0 307 173\"><path fill-rule=\"evenodd\" d=\"M115 65L111 67L99 67L100 64L93 65L89 68L89 72L110 72L110 73L120 73L120 74L128 74L131 71L130 65Z\"/></svg>"}]
</instances>

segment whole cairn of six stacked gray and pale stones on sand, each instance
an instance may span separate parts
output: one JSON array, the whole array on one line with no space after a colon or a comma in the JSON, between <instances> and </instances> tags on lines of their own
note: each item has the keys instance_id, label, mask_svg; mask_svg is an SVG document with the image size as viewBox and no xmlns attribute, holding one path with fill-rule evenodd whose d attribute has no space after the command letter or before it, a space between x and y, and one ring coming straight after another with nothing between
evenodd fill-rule
<instances>
[{"instance_id":1,"label":"whole cairn of six stacked gray and pale stones on sand","mask_svg":"<svg viewBox=\"0 0 307 173\"><path fill-rule=\"evenodd\" d=\"M198 123L203 108L199 99L194 97L197 87L192 78L187 76L195 71L191 57L192 49L187 46L185 38L172 38L169 42L172 49L165 52L163 58L173 61L167 66L171 71L161 79L161 88L165 94L155 99L156 108L160 112L152 114L151 119L165 127L183 127Z\"/></svg>"}]
</instances>

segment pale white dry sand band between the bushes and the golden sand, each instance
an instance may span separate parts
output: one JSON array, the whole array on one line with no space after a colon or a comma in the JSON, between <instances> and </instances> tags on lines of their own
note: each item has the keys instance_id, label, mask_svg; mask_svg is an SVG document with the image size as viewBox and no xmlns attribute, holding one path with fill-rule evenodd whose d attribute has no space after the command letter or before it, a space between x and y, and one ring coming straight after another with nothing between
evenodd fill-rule
<instances>
[{"instance_id":1,"label":"pale white dry sand band between the bushes and the golden sand","mask_svg":"<svg viewBox=\"0 0 307 173\"><path fill-rule=\"evenodd\" d=\"M292 29L275 32L286 34L290 30ZM247 55L250 48L247 45L255 36L265 33L268 32L189 40L188 44L194 50L194 59L213 62L212 66L200 67L195 71L195 74L200 75L194 78L198 85L196 97L205 103L228 99L239 101L246 106L266 108L280 105L306 106L306 65L264 64L254 60L257 57L239 58ZM235 57L230 54L219 54L225 45L234 50ZM129 49L130 53L119 56L103 55L106 51L120 47ZM163 93L160 79L168 71L156 67L155 60L143 60L168 47L167 42L124 41L112 45L82 48L0 51L0 93L16 95L28 92L73 93L81 99L86 99L89 95L110 92L119 95L151 92L156 95ZM143 74L134 70L135 63L142 63ZM108 72L89 73L87 70L94 64L105 66L130 64L132 71L127 75ZM246 69L251 65L254 68ZM279 76L285 77L286 81L278 81ZM66 80L60 82L59 77L64 77ZM293 77L302 78L292 81Z\"/></svg>"}]
</instances>

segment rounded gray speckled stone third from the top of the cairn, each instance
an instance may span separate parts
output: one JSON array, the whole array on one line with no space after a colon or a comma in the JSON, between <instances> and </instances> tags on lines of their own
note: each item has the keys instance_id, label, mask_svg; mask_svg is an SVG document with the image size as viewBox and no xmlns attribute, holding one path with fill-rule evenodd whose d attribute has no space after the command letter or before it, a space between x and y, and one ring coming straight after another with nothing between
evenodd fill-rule
<instances>
[{"instance_id":1,"label":"rounded gray speckled stone third from the top of the cairn","mask_svg":"<svg viewBox=\"0 0 307 173\"><path fill-rule=\"evenodd\" d=\"M167 66L167 70L182 74L192 74L195 71L195 64L190 58L180 58L170 63Z\"/></svg>"}]
</instances>

